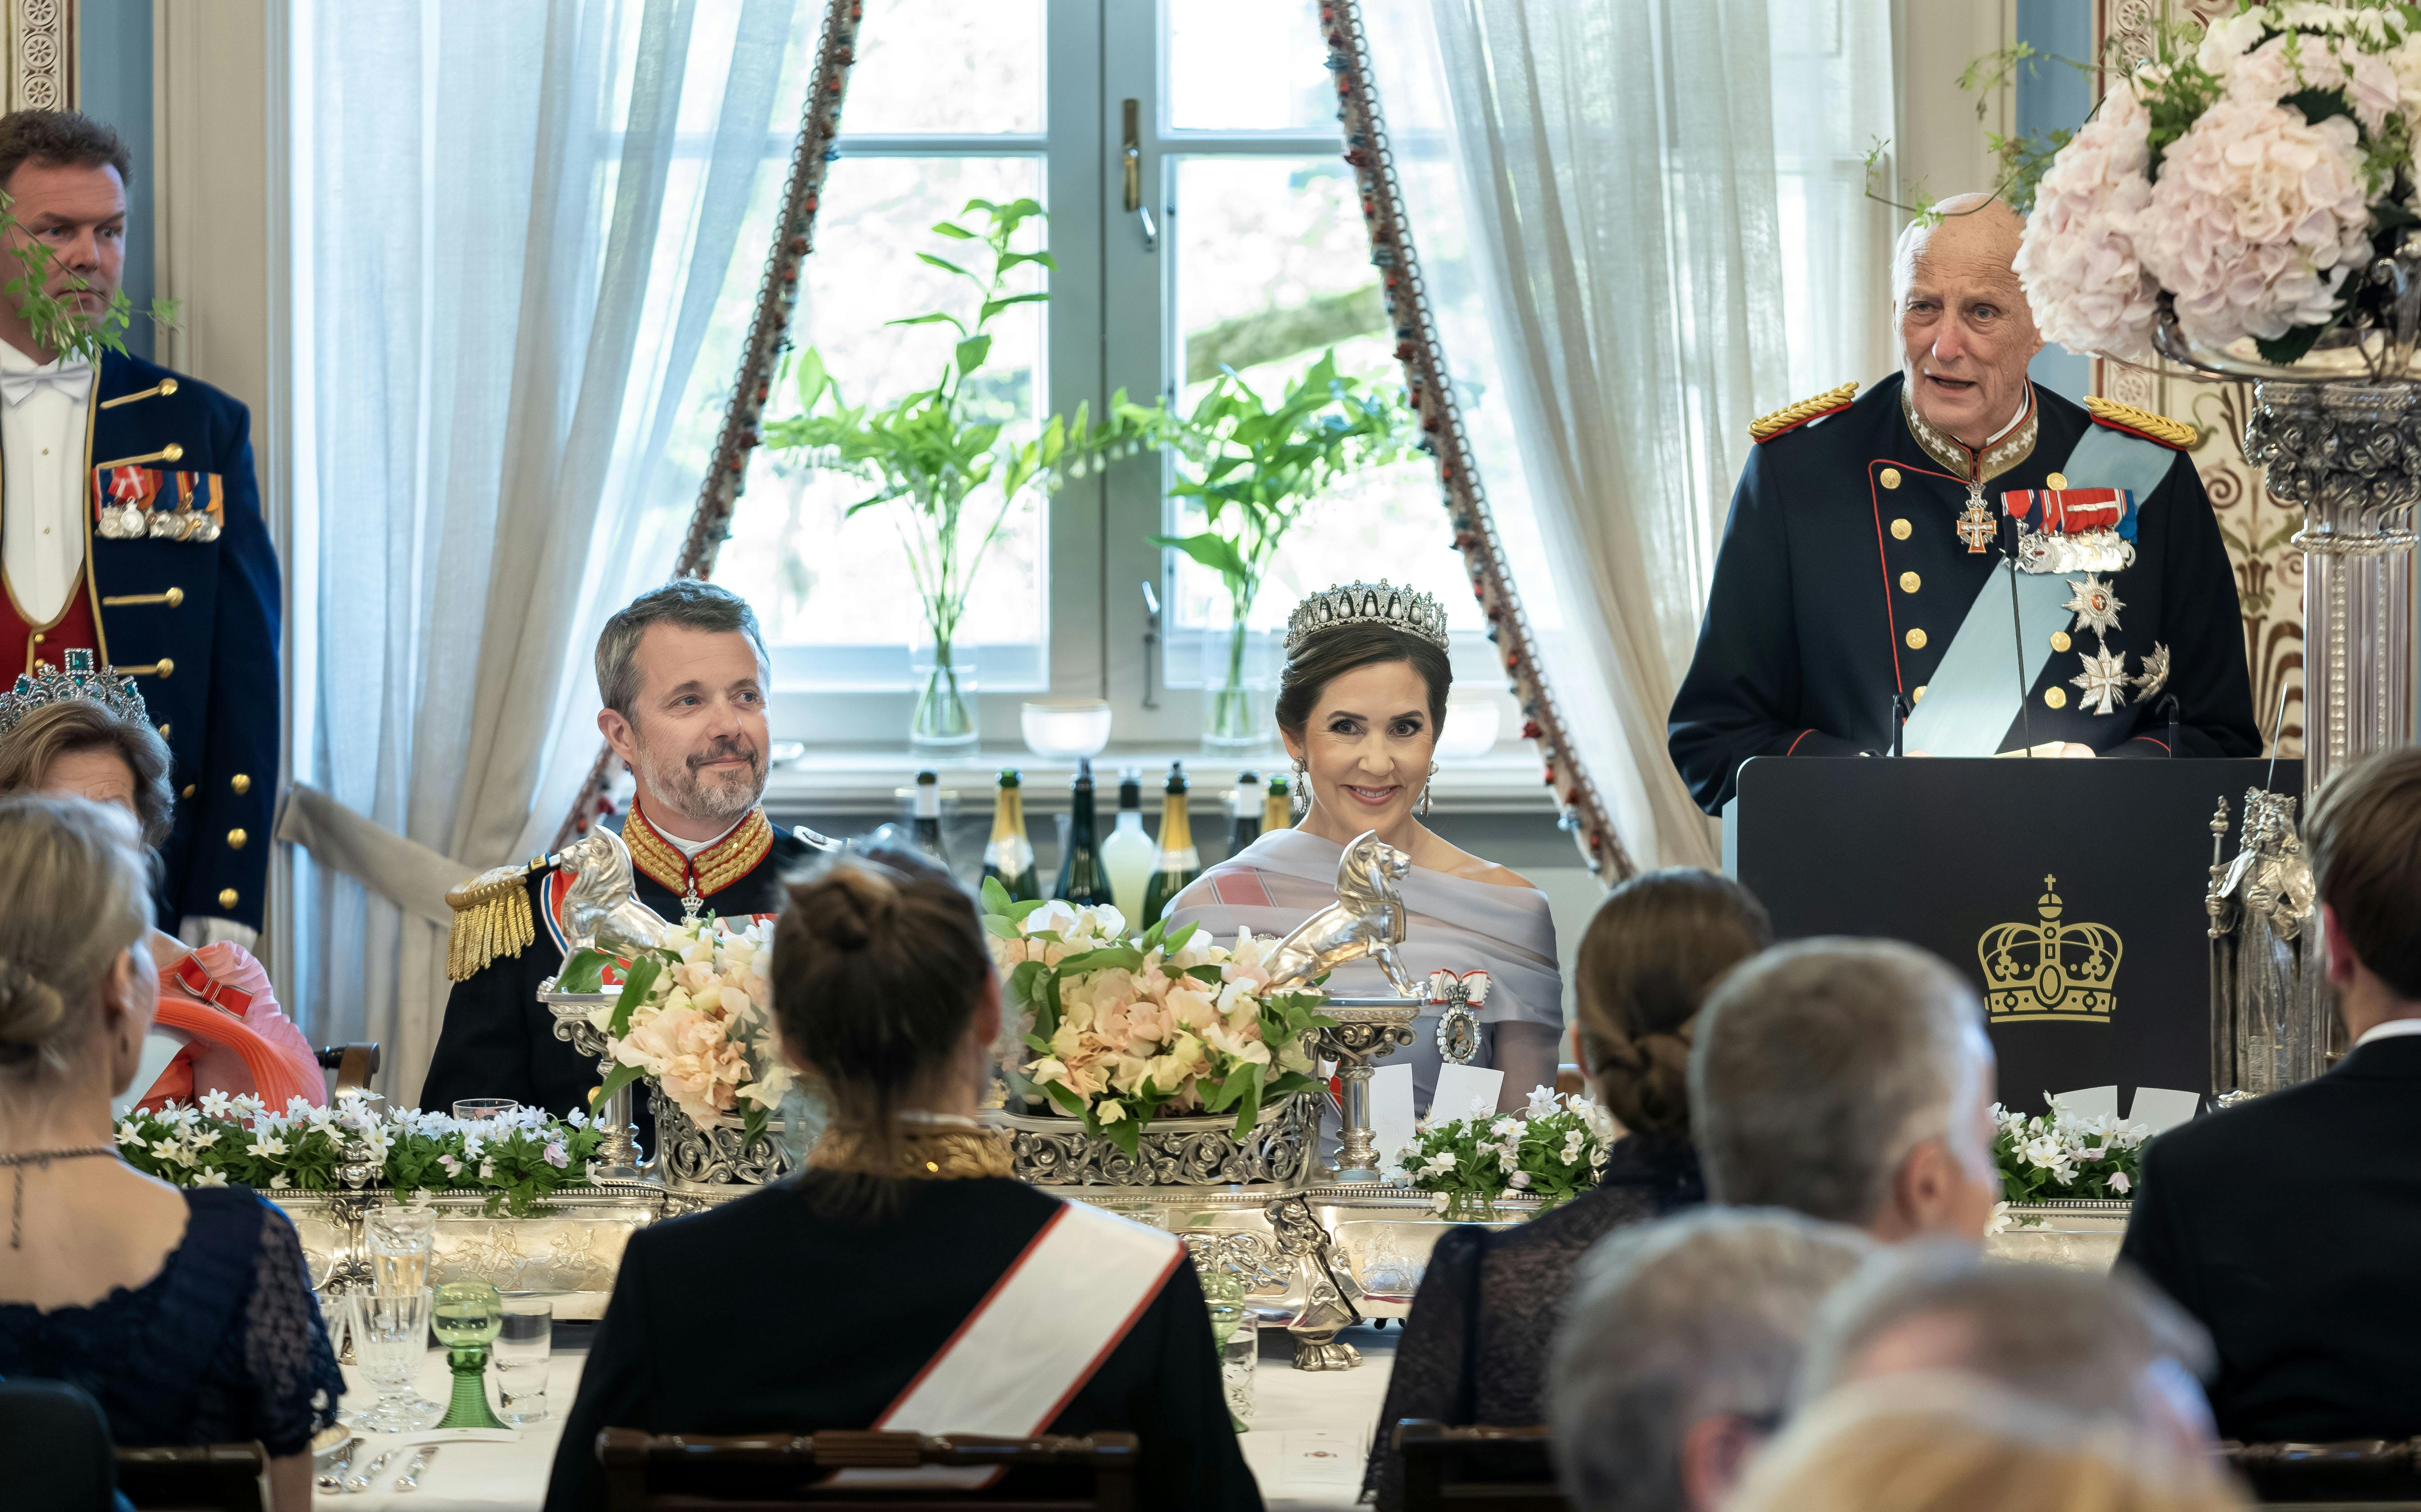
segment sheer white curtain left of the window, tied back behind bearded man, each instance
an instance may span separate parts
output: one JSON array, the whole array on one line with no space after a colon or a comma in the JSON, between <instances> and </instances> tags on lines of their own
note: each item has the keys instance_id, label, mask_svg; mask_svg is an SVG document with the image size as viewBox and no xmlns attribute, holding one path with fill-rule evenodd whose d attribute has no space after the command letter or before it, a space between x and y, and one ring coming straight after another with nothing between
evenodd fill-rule
<instances>
[{"instance_id":1,"label":"sheer white curtain left of the window, tied back behind bearded man","mask_svg":"<svg viewBox=\"0 0 2421 1512\"><path fill-rule=\"evenodd\" d=\"M685 513L646 506L697 489L738 346L709 317L753 288L816 7L291 15L281 835L310 856L283 987L322 1040L380 1040L385 1089L412 1098L448 989L433 878L552 837L596 752L571 731L586 648L671 571Z\"/></svg>"}]
</instances>

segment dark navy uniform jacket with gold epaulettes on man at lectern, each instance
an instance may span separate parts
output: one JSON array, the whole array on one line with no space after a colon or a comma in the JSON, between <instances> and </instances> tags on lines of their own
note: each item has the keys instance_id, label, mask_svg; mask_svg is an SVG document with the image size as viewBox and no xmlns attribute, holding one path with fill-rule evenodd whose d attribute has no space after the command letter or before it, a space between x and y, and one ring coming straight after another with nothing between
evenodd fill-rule
<instances>
[{"instance_id":1,"label":"dark navy uniform jacket with gold epaulettes on man at lectern","mask_svg":"<svg viewBox=\"0 0 2421 1512\"><path fill-rule=\"evenodd\" d=\"M2000 595L2000 631L2014 636L1997 535L2002 496L2051 489L2087 428L2111 423L2036 387L2034 450L1988 472L1995 544L1971 554L1959 535L1966 479L1917 440L1900 392L1903 377L1886 377L1854 404L1762 440L1741 474L1697 653L1666 731L1673 764L1707 813L1731 801L1750 757L1891 752L1893 699L1922 706L1980 593ZM2135 496L2133 530L2133 564L2099 573L2123 605L2116 624L2089 634L2077 619L2048 636L2048 660L2026 680L2024 714L2009 719L1995 750L2053 740L2114 757L2261 750L2235 571L2186 452L2172 448L2167 474ZM2084 576L2063 573L2058 590ZM2014 694L2022 663L2009 648L2000 665ZM2075 682L2097 651L2121 663L2126 687L2116 699ZM2164 706L2172 694L2174 750ZM2109 711L2099 711L2104 702Z\"/></svg>"}]
</instances>

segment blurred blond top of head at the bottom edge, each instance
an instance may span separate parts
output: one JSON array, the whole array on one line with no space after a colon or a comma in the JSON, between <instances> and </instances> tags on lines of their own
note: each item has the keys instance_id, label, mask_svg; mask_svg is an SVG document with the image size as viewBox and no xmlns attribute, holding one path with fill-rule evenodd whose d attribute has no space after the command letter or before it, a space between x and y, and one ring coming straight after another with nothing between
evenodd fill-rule
<instances>
[{"instance_id":1,"label":"blurred blond top of head at the bottom edge","mask_svg":"<svg viewBox=\"0 0 2421 1512\"><path fill-rule=\"evenodd\" d=\"M2235 1512L2206 1454L2130 1425L2080 1427L1988 1381L1908 1374L1794 1418L1726 1512Z\"/></svg>"}]
</instances>

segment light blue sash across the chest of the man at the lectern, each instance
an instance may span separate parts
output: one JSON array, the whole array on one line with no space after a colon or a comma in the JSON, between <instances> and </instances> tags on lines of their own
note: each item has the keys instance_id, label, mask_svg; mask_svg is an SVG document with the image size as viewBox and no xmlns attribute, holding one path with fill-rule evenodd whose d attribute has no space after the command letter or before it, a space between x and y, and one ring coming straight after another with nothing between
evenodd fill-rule
<instances>
[{"instance_id":1,"label":"light blue sash across the chest of the man at the lectern","mask_svg":"<svg viewBox=\"0 0 2421 1512\"><path fill-rule=\"evenodd\" d=\"M2164 445L2087 426L2068 452L2072 489L2126 489L2138 518L2176 460ZM1925 685L1925 702L1908 716L1905 750L1937 757L1988 757L2000 752L2009 723L2051 660L2053 631L2068 629L2070 588L2063 573L2017 573L2017 627L2009 624L2009 569L1997 566L1968 605L1951 648Z\"/></svg>"}]
</instances>

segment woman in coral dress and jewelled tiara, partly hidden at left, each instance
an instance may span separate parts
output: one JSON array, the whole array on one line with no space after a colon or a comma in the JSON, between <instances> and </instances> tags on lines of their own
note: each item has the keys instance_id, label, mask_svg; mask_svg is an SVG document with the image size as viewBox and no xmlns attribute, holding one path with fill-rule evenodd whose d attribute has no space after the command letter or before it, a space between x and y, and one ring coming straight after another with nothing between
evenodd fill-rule
<instances>
[{"instance_id":1,"label":"woman in coral dress and jewelled tiara, partly hidden at left","mask_svg":"<svg viewBox=\"0 0 2421 1512\"><path fill-rule=\"evenodd\" d=\"M174 825L167 740L143 716L131 682L114 694L126 706L63 697L0 723L0 793L61 793L133 815L143 847L157 856ZM194 1103L203 1093L247 1093L271 1108L303 1098L327 1103L320 1055L278 1009L269 973L235 941L194 948L150 931L160 968L140 1106Z\"/></svg>"}]
</instances>

